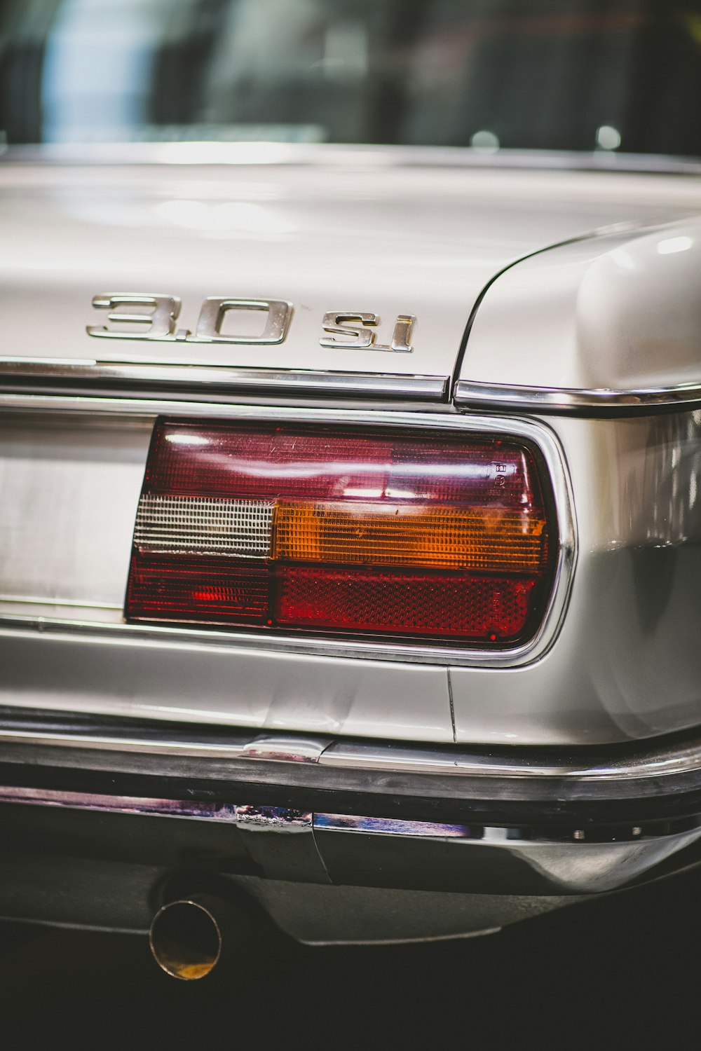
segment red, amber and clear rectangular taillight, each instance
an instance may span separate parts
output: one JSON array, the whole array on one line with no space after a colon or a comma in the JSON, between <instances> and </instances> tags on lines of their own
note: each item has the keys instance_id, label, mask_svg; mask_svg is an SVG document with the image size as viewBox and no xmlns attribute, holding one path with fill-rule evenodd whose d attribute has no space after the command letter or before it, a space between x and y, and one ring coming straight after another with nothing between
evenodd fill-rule
<instances>
[{"instance_id":1,"label":"red, amber and clear rectangular taillight","mask_svg":"<svg viewBox=\"0 0 701 1051\"><path fill-rule=\"evenodd\" d=\"M552 586L551 504L513 437L159 421L126 614L522 643Z\"/></svg>"}]
</instances>

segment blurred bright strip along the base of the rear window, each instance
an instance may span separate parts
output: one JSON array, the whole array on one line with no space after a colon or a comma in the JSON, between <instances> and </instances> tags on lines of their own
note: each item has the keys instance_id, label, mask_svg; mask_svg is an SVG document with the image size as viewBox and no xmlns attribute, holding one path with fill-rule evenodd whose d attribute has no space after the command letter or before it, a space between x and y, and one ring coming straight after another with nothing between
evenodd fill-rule
<instances>
[{"instance_id":1,"label":"blurred bright strip along the base of the rear window","mask_svg":"<svg viewBox=\"0 0 701 1051\"><path fill-rule=\"evenodd\" d=\"M441 168L532 168L699 174L694 157L607 150L499 149L470 146L393 146L367 143L119 142L38 143L0 148L3 164L318 165Z\"/></svg>"}]
</instances>

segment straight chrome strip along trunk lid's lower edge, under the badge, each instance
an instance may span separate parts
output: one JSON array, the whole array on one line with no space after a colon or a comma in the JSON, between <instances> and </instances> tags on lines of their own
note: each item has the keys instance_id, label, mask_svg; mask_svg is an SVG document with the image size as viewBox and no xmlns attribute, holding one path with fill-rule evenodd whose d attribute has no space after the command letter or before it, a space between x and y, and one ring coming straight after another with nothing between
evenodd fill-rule
<instances>
[{"instance_id":1,"label":"straight chrome strip along trunk lid's lower edge, under the badge","mask_svg":"<svg viewBox=\"0 0 701 1051\"><path fill-rule=\"evenodd\" d=\"M375 372L314 372L294 369L234 369L226 366L140 365L81 358L0 357L0 383L26 379L69 387L90 384L178 387L206 396L219 391L332 394L344 397L397 397L444 401L449 376Z\"/></svg>"}]
</instances>

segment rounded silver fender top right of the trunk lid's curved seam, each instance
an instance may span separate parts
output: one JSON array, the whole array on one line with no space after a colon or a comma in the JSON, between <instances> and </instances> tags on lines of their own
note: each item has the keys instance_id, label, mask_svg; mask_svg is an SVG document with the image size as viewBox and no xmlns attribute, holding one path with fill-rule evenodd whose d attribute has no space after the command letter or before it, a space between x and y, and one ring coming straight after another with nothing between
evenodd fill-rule
<instances>
[{"instance_id":1,"label":"rounded silver fender top right of the trunk lid's curved seam","mask_svg":"<svg viewBox=\"0 0 701 1051\"><path fill-rule=\"evenodd\" d=\"M525 260L487 292L460 378L622 391L699 383L700 271L699 219Z\"/></svg>"}]
</instances>

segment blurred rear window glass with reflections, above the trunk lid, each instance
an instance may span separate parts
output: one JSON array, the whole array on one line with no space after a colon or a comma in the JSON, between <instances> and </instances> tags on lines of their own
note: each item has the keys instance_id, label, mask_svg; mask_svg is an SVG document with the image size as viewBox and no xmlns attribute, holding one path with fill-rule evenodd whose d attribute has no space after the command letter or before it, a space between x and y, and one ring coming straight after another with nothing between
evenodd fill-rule
<instances>
[{"instance_id":1,"label":"blurred rear window glass with reflections, above the trunk lid","mask_svg":"<svg viewBox=\"0 0 701 1051\"><path fill-rule=\"evenodd\" d=\"M699 0L3 0L9 142L701 154Z\"/></svg>"}]
</instances>

